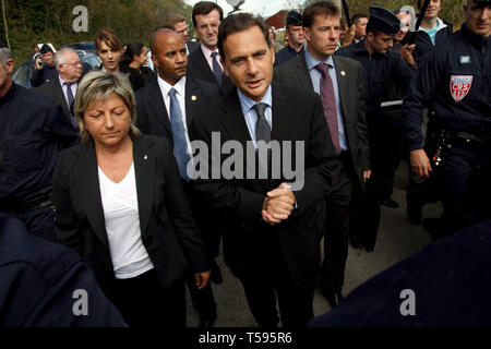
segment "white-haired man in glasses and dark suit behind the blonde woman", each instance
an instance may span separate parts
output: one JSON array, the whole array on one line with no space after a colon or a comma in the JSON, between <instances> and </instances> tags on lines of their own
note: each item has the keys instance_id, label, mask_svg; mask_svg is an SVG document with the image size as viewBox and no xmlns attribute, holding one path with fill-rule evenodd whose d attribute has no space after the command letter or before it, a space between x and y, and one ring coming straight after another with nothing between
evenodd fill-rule
<instances>
[{"instance_id":1,"label":"white-haired man in glasses and dark suit behind the blonde woman","mask_svg":"<svg viewBox=\"0 0 491 349\"><path fill-rule=\"evenodd\" d=\"M63 108L67 118L75 124L71 105L75 100L76 88L82 76L82 61L79 55L70 48L63 48L56 55L58 79L43 84L37 89L52 97Z\"/></svg>"}]
</instances>

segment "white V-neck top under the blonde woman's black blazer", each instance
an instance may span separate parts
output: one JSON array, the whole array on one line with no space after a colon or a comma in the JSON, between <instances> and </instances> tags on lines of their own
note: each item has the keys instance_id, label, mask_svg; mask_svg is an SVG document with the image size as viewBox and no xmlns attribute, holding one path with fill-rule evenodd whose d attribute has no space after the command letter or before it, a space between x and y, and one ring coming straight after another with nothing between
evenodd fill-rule
<instances>
[{"instance_id":1,"label":"white V-neck top under the blonde woman's black blazer","mask_svg":"<svg viewBox=\"0 0 491 349\"><path fill-rule=\"evenodd\" d=\"M134 164L119 183L99 170L100 197L117 279L136 277L154 268L142 242Z\"/></svg>"}]
</instances>

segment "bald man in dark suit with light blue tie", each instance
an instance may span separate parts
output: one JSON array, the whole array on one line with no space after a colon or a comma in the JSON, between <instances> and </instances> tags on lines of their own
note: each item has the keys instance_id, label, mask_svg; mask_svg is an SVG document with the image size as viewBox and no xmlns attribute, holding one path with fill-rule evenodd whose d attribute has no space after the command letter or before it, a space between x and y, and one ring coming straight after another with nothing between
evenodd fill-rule
<instances>
[{"instance_id":1,"label":"bald man in dark suit with light blue tie","mask_svg":"<svg viewBox=\"0 0 491 349\"><path fill-rule=\"evenodd\" d=\"M172 29L160 28L152 35L152 60L158 70L158 76L136 92L139 125L144 133L166 137L173 147L182 183L189 202L193 206L193 214L200 225L209 255L215 257L218 255L219 230L216 225L213 225L212 216L205 209L206 207L199 204L200 200L189 184L189 176L183 166L189 158L188 153L191 153L188 127L201 105L212 101L219 94L216 85L185 76L188 55L184 45L182 37ZM171 91L175 91L173 96ZM172 119L177 110L173 106L175 100L178 101L179 120ZM219 274L215 261L211 262L215 266L213 273ZM215 281L217 281L216 275ZM204 290L197 290L193 277L188 285L194 308L200 314L200 325L213 325L216 320L216 304L211 286L208 285Z\"/></svg>"}]
</instances>

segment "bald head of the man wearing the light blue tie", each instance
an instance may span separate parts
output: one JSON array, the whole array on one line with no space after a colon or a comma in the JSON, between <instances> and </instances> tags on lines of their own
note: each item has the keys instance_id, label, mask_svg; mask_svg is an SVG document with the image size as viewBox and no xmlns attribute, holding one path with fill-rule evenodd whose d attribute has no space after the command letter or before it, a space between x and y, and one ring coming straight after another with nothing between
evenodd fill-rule
<instances>
[{"instance_id":1,"label":"bald head of the man wearing the light blue tie","mask_svg":"<svg viewBox=\"0 0 491 349\"><path fill-rule=\"evenodd\" d=\"M158 75L175 85L188 69L188 53L181 35L167 28L160 28L152 34L152 61L158 69Z\"/></svg>"}]
</instances>

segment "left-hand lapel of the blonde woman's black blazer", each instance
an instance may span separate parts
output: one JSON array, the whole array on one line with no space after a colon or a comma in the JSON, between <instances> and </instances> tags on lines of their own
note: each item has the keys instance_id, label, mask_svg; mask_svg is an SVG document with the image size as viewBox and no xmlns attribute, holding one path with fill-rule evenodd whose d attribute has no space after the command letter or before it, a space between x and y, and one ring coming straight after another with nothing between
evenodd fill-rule
<instances>
[{"instance_id":1,"label":"left-hand lapel of the blonde woman's black blazer","mask_svg":"<svg viewBox=\"0 0 491 349\"><path fill-rule=\"evenodd\" d=\"M87 145L84 147L80 156L80 168L83 170L76 172L76 179L80 184L80 195L82 197L83 206L85 207L87 219L97 238L99 238L103 244L109 249L103 201L100 198L97 157L94 146Z\"/></svg>"}]
</instances>

